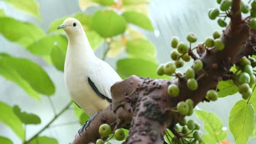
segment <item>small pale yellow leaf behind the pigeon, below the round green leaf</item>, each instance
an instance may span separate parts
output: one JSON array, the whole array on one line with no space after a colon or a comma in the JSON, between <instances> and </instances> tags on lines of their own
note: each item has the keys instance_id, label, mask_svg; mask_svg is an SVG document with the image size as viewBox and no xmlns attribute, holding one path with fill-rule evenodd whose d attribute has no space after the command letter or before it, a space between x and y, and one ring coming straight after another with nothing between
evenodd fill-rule
<instances>
[{"instance_id":1,"label":"small pale yellow leaf behind the pigeon, below the round green leaf","mask_svg":"<svg viewBox=\"0 0 256 144\"><path fill-rule=\"evenodd\" d=\"M108 57L116 57L120 52L125 49L122 39L115 39L111 41L109 45L109 51L107 53Z\"/></svg>"}]
</instances>

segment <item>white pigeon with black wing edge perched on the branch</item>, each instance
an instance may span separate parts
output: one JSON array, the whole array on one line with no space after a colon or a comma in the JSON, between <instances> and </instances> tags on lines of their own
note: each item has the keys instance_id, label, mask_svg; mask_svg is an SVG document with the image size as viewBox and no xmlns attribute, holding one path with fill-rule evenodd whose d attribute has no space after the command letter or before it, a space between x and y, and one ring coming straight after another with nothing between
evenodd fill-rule
<instances>
[{"instance_id":1,"label":"white pigeon with black wing edge perched on the branch","mask_svg":"<svg viewBox=\"0 0 256 144\"><path fill-rule=\"evenodd\" d=\"M67 18L57 29L60 28L68 37L66 87L74 102L91 117L109 105L110 87L122 79L108 63L95 56L77 19Z\"/></svg>"}]
</instances>

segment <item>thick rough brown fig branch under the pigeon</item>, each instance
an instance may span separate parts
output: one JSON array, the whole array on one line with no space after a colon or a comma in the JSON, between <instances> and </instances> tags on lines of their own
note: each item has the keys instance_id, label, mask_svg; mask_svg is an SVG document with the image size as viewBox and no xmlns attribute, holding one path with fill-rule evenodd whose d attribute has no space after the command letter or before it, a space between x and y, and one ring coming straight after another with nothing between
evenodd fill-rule
<instances>
[{"instance_id":1,"label":"thick rough brown fig branch under the pigeon","mask_svg":"<svg viewBox=\"0 0 256 144\"><path fill-rule=\"evenodd\" d=\"M103 123L110 124L113 130L130 124L126 143L163 143L165 129L173 129L184 117L171 111L179 101L190 98L195 106L205 100L206 92L216 89L218 82L233 64L241 57L255 53L255 31L248 26L248 21L242 20L240 2L232 2L231 23L221 37L225 49L197 50L200 52L199 59L203 62L203 71L197 72L196 77L204 76L198 80L196 91L188 89L185 77L167 81L131 76L112 86L113 103L100 112L88 130L82 136L76 136L73 143L95 142L100 138L98 127ZM179 86L180 93L177 98L167 94L167 87L171 83Z\"/></svg>"}]
</instances>

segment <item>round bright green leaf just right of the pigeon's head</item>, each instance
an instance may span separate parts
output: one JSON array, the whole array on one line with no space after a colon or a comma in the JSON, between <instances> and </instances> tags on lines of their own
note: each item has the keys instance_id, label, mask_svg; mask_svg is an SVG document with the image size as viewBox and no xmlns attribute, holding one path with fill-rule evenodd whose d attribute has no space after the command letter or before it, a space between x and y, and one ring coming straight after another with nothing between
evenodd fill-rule
<instances>
[{"instance_id":1,"label":"round bright green leaf just right of the pigeon's head","mask_svg":"<svg viewBox=\"0 0 256 144\"><path fill-rule=\"evenodd\" d=\"M98 10L92 16L92 28L104 38L114 37L124 33L126 21L113 10Z\"/></svg>"}]
</instances>

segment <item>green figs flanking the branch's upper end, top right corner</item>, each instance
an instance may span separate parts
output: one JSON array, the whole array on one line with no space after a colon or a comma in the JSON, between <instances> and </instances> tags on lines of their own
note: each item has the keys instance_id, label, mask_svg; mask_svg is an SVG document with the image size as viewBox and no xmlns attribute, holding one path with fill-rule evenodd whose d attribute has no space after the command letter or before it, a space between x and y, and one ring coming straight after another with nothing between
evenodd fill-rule
<instances>
[{"instance_id":1,"label":"green figs flanking the branch's upper end, top right corner","mask_svg":"<svg viewBox=\"0 0 256 144\"><path fill-rule=\"evenodd\" d=\"M220 27L226 27L226 17L229 16L229 10L232 5L231 0L217 0L217 3L219 4L219 8L210 9L208 11L208 16L211 20L215 20L217 17L218 19L218 25ZM219 10L220 9L220 10ZM244 14L248 14L250 12L251 14L251 21L249 22L249 25L256 29L256 1L253 0L251 3L251 7L246 2L241 1L241 12Z\"/></svg>"}]
</instances>

